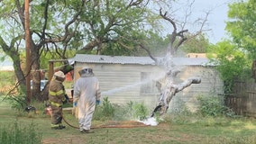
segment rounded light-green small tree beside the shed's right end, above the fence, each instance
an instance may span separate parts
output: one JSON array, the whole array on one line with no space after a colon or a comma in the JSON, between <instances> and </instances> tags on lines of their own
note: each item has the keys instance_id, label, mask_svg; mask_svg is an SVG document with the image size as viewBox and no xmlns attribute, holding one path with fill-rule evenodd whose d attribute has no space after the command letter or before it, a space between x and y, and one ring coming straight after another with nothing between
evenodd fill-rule
<instances>
[{"instance_id":1,"label":"rounded light-green small tree beside the shed's right end, above the fence","mask_svg":"<svg viewBox=\"0 0 256 144\"><path fill-rule=\"evenodd\" d=\"M246 53L229 40L217 43L209 49L208 57L216 65L224 81L225 94L232 93L233 80L246 79L251 75L251 65Z\"/></svg>"}]
</instances>

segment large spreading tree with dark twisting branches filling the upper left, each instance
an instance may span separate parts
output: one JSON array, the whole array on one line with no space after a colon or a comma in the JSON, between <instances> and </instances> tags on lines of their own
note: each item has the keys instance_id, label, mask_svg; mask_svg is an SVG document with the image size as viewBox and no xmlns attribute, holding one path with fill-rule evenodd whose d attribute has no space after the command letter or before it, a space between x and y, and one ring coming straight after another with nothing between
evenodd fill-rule
<instances>
[{"instance_id":1,"label":"large spreading tree with dark twisting branches filling the upper left","mask_svg":"<svg viewBox=\"0 0 256 144\"><path fill-rule=\"evenodd\" d=\"M147 4L148 0L30 1L32 96L41 97L41 54L50 52L65 59L67 49L87 49L100 54L111 44L117 45L116 48L132 46L130 40L134 39L130 38L138 38L136 34L143 31L145 17L151 15ZM23 1L1 1L0 6L0 45L13 59L23 90L25 75L19 59L24 48Z\"/></svg>"}]
</instances>

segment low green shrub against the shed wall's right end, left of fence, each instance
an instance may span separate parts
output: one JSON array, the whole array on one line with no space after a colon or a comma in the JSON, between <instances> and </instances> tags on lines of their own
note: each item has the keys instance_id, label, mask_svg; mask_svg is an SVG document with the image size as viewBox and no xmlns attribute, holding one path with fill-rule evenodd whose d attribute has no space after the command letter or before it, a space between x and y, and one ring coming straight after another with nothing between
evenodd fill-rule
<instances>
[{"instance_id":1,"label":"low green shrub against the shed wall's right end, left of fence","mask_svg":"<svg viewBox=\"0 0 256 144\"><path fill-rule=\"evenodd\" d=\"M198 112L203 116L222 116L233 115L224 105L224 97L222 96L204 96L197 97L199 102Z\"/></svg>"}]
</instances>

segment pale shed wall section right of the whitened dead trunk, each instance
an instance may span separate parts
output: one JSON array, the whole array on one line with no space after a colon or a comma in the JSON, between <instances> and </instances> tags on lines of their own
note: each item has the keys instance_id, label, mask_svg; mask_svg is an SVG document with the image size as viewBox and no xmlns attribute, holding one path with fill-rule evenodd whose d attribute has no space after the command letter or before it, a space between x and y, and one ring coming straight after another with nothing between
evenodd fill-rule
<instances>
[{"instance_id":1,"label":"pale shed wall section right of the whitened dead trunk","mask_svg":"<svg viewBox=\"0 0 256 144\"><path fill-rule=\"evenodd\" d=\"M189 77L201 77L200 84L192 84L176 94L170 104L176 105L177 101L186 103L190 111L197 110L197 96L211 96L223 94L223 82L213 67L189 66L183 67L177 76L177 84L182 83Z\"/></svg>"}]
</instances>

